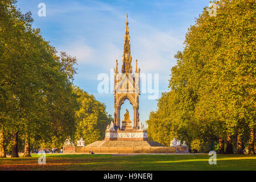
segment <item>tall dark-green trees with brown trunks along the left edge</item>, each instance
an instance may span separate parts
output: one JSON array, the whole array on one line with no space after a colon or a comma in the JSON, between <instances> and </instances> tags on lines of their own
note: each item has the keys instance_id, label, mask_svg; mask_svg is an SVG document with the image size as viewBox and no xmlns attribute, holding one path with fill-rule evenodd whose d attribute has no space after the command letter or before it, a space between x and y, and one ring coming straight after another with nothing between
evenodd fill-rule
<instances>
[{"instance_id":1,"label":"tall dark-green trees with brown trunks along the left edge","mask_svg":"<svg viewBox=\"0 0 256 182\"><path fill-rule=\"evenodd\" d=\"M74 133L77 102L71 81L76 58L65 52L58 57L40 30L31 27L31 13L22 14L15 4L0 2L0 124L1 131L14 131L13 156L18 133L24 137L26 157L32 138ZM0 140L2 152L3 135Z\"/></svg>"}]
</instances>

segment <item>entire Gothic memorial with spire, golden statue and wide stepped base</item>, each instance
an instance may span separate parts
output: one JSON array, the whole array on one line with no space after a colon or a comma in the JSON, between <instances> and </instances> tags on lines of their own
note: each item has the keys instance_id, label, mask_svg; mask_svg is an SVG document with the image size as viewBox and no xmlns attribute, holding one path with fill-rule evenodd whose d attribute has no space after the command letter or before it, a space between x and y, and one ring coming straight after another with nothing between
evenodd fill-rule
<instances>
[{"instance_id":1,"label":"entire Gothic memorial with spire, golden statue and wide stepped base","mask_svg":"<svg viewBox=\"0 0 256 182\"><path fill-rule=\"evenodd\" d=\"M105 139L85 147L76 147L76 152L94 153L175 153L176 147L166 147L155 141L148 141L147 131L139 122L140 73L138 61L135 70L131 66L130 35L126 16L125 43L123 44L122 70L118 71L118 60L114 68L114 121L106 127ZM133 118L126 109L120 121L120 110L125 100L133 105Z\"/></svg>"}]
</instances>

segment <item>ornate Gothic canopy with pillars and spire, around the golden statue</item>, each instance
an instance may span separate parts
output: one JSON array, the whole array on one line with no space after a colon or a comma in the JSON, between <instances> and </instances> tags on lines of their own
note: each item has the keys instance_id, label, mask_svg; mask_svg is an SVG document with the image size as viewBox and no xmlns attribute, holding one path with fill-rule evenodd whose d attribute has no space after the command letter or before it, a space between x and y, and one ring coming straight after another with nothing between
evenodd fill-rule
<instances>
[{"instance_id":1,"label":"ornate Gothic canopy with pillars and spire, around the golden statue","mask_svg":"<svg viewBox=\"0 0 256 182\"><path fill-rule=\"evenodd\" d=\"M131 66L131 47L130 47L130 35L128 27L128 14L126 17L125 27L125 43L123 44L123 64L122 73L118 72L118 60L114 68L114 127L116 130L120 130L120 110L123 102L129 100L133 105L133 130L139 128L139 75L140 69L137 68L138 61L136 60L136 68L133 73L133 67ZM123 123L124 124L124 123ZM129 127L122 127L122 130L130 130Z\"/></svg>"}]
</instances>

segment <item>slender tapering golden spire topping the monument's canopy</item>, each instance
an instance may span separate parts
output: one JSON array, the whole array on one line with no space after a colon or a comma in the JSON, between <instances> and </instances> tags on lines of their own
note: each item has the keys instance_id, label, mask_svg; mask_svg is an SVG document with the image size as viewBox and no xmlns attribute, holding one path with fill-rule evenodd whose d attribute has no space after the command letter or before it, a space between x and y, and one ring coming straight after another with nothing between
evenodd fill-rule
<instances>
[{"instance_id":1,"label":"slender tapering golden spire topping the monument's canopy","mask_svg":"<svg viewBox=\"0 0 256 182\"><path fill-rule=\"evenodd\" d=\"M123 65L122 73L132 73L131 67L131 47L130 47L130 35L128 27L128 14L126 15L126 27L125 27L125 43L123 44Z\"/></svg>"}]
</instances>

